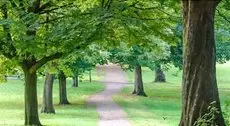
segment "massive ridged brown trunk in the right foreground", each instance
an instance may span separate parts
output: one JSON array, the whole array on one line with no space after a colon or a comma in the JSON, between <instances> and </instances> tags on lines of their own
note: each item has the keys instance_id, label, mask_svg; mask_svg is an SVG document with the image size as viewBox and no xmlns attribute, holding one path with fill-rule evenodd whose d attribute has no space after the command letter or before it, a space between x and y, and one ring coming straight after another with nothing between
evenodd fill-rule
<instances>
[{"instance_id":1,"label":"massive ridged brown trunk in the right foreground","mask_svg":"<svg viewBox=\"0 0 230 126\"><path fill-rule=\"evenodd\" d=\"M193 126L216 101L214 123L225 126L216 82L214 15L219 1L183 2L183 106L180 126Z\"/></svg>"}]
</instances>

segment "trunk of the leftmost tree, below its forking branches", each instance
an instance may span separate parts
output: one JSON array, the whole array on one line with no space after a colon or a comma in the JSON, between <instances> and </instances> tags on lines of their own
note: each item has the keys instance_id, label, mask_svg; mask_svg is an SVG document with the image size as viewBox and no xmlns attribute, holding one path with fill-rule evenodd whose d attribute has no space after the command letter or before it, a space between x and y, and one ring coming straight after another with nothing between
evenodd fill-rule
<instances>
[{"instance_id":1,"label":"trunk of the leftmost tree, below its forking branches","mask_svg":"<svg viewBox=\"0 0 230 126\"><path fill-rule=\"evenodd\" d=\"M38 116L37 74L23 68L25 76L25 125L41 126Z\"/></svg>"}]
</instances>

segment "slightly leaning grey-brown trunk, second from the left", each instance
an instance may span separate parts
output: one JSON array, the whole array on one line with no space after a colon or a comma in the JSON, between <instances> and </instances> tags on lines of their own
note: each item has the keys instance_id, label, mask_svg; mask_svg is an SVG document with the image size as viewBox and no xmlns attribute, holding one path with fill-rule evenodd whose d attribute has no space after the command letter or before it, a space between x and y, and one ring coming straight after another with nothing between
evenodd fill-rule
<instances>
[{"instance_id":1,"label":"slightly leaning grey-brown trunk, second from the left","mask_svg":"<svg viewBox=\"0 0 230 126\"><path fill-rule=\"evenodd\" d=\"M44 89L43 89L43 101L42 101L42 113L55 113L53 106L53 83L54 74L46 73Z\"/></svg>"}]
</instances>

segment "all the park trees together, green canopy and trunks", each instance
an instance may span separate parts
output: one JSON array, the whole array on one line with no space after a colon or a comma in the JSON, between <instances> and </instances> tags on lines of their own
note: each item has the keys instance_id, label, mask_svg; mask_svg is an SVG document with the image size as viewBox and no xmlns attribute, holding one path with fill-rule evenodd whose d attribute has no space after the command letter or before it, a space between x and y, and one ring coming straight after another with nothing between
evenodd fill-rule
<instances>
[{"instance_id":1,"label":"all the park trees together, green canopy and trunks","mask_svg":"<svg viewBox=\"0 0 230 126\"><path fill-rule=\"evenodd\" d=\"M181 3L1 1L0 63L7 64L1 66L1 75L9 70L23 71L25 125L41 125L37 102L39 73L46 76L42 112L54 113L54 73L58 73L60 104L68 104L66 77L73 77L73 86L77 87L79 75L110 61L134 70L133 94L142 96L146 94L141 67L155 70L155 81L166 81L162 66L172 63L183 70L180 126L192 126L213 101L220 111L213 123L225 126L215 64L229 60L229 1Z\"/></svg>"}]
</instances>

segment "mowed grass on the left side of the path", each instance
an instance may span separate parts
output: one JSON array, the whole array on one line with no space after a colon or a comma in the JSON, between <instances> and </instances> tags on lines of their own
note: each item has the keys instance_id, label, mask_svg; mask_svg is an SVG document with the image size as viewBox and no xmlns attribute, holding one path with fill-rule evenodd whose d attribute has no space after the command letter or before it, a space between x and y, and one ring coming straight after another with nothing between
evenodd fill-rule
<instances>
[{"instance_id":1,"label":"mowed grass on the left side of the path","mask_svg":"<svg viewBox=\"0 0 230 126\"><path fill-rule=\"evenodd\" d=\"M97 79L93 72L93 79ZM87 78L87 77L85 77ZM24 124L24 85L23 81L10 80L0 84L0 125ZM72 80L67 81L67 94L70 105L61 106L59 102L58 82L54 84L54 104L56 114L41 114L43 80L38 80L39 116L43 125L47 126L95 126L99 116L95 107L86 106L87 98L104 89L98 82L83 81L78 88L72 88Z\"/></svg>"}]
</instances>

